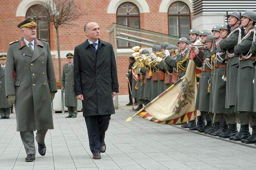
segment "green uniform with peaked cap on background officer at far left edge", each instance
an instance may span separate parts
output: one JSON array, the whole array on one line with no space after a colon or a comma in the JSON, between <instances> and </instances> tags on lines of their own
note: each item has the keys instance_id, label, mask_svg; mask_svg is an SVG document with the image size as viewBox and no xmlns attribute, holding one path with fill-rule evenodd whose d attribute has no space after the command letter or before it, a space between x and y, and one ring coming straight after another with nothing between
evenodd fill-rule
<instances>
[{"instance_id":1,"label":"green uniform with peaked cap on background officer at far left edge","mask_svg":"<svg viewBox=\"0 0 256 170\"><path fill-rule=\"evenodd\" d=\"M6 59L6 55L0 55L0 59ZM10 119L11 105L5 93L5 65L0 64L0 119Z\"/></svg>"}]
</instances>

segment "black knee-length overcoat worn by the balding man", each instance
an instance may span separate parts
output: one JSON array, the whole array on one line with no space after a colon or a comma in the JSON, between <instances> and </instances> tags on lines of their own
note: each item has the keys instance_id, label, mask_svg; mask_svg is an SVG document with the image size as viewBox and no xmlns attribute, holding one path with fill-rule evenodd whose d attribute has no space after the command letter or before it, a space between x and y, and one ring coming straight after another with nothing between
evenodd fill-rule
<instances>
[{"instance_id":1,"label":"black knee-length overcoat worn by the balding man","mask_svg":"<svg viewBox=\"0 0 256 170\"><path fill-rule=\"evenodd\" d=\"M114 114L112 92L118 92L116 59L110 43L99 40L97 52L88 40L74 52L75 94L83 94L83 116Z\"/></svg>"}]
</instances>

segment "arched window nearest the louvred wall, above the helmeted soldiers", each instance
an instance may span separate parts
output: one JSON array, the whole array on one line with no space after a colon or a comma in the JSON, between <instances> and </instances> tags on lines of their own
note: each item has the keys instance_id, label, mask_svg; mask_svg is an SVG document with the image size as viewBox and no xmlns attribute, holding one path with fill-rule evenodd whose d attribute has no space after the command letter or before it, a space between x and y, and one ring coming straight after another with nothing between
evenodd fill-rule
<instances>
[{"instance_id":1,"label":"arched window nearest the louvred wall, above the helmeted soldiers","mask_svg":"<svg viewBox=\"0 0 256 170\"><path fill-rule=\"evenodd\" d=\"M169 35L189 37L190 11L183 2L172 3L168 10Z\"/></svg>"}]
</instances>

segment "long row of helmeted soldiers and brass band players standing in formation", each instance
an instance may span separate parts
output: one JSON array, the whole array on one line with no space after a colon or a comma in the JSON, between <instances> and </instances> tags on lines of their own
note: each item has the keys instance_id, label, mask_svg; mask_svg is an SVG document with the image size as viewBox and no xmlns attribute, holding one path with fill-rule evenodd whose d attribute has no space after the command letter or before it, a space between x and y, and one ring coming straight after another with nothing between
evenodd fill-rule
<instances>
[{"instance_id":1,"label":"long row of helmeted soldiers and brass band players standing in formation","mask_svg":"<svg viewBox=\"0 0 256 170\"><path fill-rule=\"evenodd\" d=\"M180 37L177 46L162 42L154 45L152 53L145 49L139 52L140 46L132 48L127 77L131 97L138 104L135 111L183 77L189 60L193 60L198 82L195 109L201 115L197 122L181 127L256 143L256 12L233 11L227 17L228 24L212 30L191 29L190 41ZM132 98L127 105L134 104Z\"/></svg>"}]
</instances>

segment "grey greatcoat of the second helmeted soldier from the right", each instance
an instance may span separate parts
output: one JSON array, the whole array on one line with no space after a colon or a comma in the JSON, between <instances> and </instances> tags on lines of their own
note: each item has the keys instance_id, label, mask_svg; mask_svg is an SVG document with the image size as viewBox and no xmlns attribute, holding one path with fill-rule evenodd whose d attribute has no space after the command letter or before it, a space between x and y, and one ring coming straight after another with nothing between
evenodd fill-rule
<instances>
[{"instance_id":1,"label":"grey greatcoat of the second helmeted soldier from the right","mask_svg":"<svg viewBox=\"0 0 256 170\"><path fill-rule=\"evenodd\" d=\"M219 44L222 50L228 51L230 54L234 54L234 47L238 43L239 29L241 26L235 28L233 32L225 40L222 40ZM234 30L235 30L234 29ZM242 35L241 35L242 36ZM237 85L237 73L238 68L236 67L239 63L239 54L234 54L233 57L227 59L227 82L226 82L226 99L225 107L230 108L236 103L236 85Z\"/></svg>"}]
</instances>

